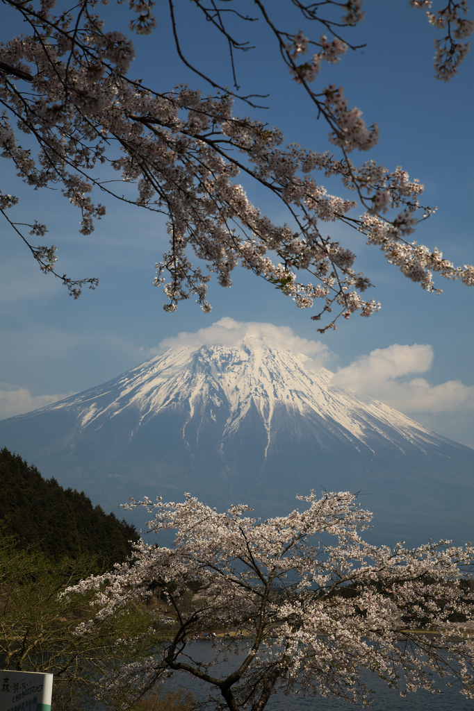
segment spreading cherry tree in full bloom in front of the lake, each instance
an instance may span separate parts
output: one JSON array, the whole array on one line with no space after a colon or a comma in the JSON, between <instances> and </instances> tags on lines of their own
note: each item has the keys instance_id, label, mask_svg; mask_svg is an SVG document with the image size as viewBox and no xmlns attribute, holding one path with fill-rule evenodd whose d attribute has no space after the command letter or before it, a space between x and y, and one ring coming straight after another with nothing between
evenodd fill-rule
<instances>
[{"instance_id":1,"label":"spreading cherry tree in full bloom in front of the lake","mask_svg":"<svg viewBox=\"0 0 474 711\"><path fill-rule=\"evenodd\" d=\"M132 702L186 674L209 685L216 708L232 711L261 711L277 691L367 702L364 668L401 695L434 691L449 675L474 698L474 592L465 578L474 547L374 547L360 536L371 514L357 496L298 498L305 510L265 521L249 518L248 506L218 513L189 494L184 503L125 506L154 510L149 529L177 530L174 547L142 541L130 562L66 591L95 592L95 617L76 633L91 634L157 591L174 625L141 663L102 680L107 697L128 687ZM203 661L196 636L206 633L214 658ZM153 627L149 634L156 640Z\"/></svg>"}]
</instances>

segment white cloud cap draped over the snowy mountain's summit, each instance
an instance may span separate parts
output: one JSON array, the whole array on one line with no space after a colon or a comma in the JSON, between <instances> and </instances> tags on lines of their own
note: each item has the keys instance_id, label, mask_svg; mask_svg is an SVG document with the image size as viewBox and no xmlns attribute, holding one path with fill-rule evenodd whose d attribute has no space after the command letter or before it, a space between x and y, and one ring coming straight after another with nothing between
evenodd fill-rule
<instances>
[{"instance_id":1,"label":"white cloud cap draped over the snowy mountain's summit","mask_svg":"<svg viewBox=\"0 0 474 711\"><path fill-rule=\"evenodd\" d=\"M208 328L199 328L196 333L181 331L178 336L165 338L159 344L159 351L179 346L229 346L238 348L252 346L258 348L288 348L295 353L305 353L313 360L321 362L332 355L329 348L321 341L308 341L295 336L289 326L259 324L255 321L234 321L228 317L216 321Z\"/></svg>"}]
</instances>

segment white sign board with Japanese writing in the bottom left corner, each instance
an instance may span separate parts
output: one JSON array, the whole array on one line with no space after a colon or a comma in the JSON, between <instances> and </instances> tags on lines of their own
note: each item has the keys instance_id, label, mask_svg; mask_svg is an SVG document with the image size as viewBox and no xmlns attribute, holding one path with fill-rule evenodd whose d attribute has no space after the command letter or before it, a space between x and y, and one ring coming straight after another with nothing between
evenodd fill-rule
<instances>
[{"instance_id":1,"label":"white sign board with Japanese writing in the bottom left corner","mask_svg":"<svg viewBox=\"0 0 474 711\"><path fill-rule=\"evenodd\" d=\"M0 671L0 711L51 711L53 674Z\"/></svg>"}]
</instances>

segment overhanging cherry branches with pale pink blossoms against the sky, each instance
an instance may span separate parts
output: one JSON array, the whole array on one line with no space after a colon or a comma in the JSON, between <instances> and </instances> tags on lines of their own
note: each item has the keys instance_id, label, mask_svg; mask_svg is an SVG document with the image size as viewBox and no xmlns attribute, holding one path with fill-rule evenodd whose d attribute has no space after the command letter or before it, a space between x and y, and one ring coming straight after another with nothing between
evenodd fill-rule
<instances>
[{"instance_id":1,"label":"overhanging cherry branches with pale pink blossoms against the sky","mask_svg":"<svg viewBox=\"0 0 474 711\"><path fill-rule=\"evenodd\" d=\"M343 87L312 88L324 63L337 63L349 49L357 50L347 35L364 17L362 0L288 0L289 17L290 11L297 11L302 23L322 28L323 34L311 40L290 27L293 15L287 27L279 27L271 3L255 0L256 16L251 17L243 14L239 0L193 0L192 11L204 16L228 43L233 90L186 59L174 2L169 0L177 53L211 86L212 95L183 85L149 87L130 78L132 42L122 32L105 28L98 0L79 0L70 8L58 6L56 0L2 2L16 11L23 31L0 46L2 156L14 161L18 175L33 189L59 185L81 210L80 232L85 235L105 215L105 206L93 199L98 191L166 215L170 246L157 263L155 284L164 287L167 311L190 296L209 311L206 288L211 274L229 287L231 272L241 264L300 308L320 299L322 305L312 316L325 320L318 331L335 328L339 316L370 316L379 304L363 298L371 286L368 277L354 269L355 255L349 248L322 232L326 223L335 222L362 232L389 263L429 292L439 292L433 273L474 283L474 267L455 267L438 249L410 241L416 225L433 213L419 202L423 186L400 166L386 169L373 160L357 165L350 157L376 144L376 124L367 127L362 111L349 107ZM411 0L409 5L424 9L428 21L444 33L436 39L436 78L451 80L468 52L465 38L474 27L465 17L466 0L448 0L436 11L428 0ZM153 6L152 0L130 0L135 12L131 31L153 31ZM284 146L278 128L234 111L236 101L252 109L261 100L241 95L235 61L239 50L250 49L234 36L235 23L257 17L317 117L327 122L330 150ZM309 50L312 54L305 58ZM19 143L21 134L26 134L28 147ZM119 184L136 185L135 197L114 187L109 169L120 174ZM285 206L288 223L278 225L263 215L238 183L238 173L273 193ZM328 194L318 184L317 173L339 178L346 197ZM43 237L46 225L10 218L7 210L16 202L15 196L0 193L2 215L41 270L56 274L75 298L85 284L94 289L96 278L71 279L56 271L55 247L31 244L23 228Z\"/></svg>"}]
</instances>

